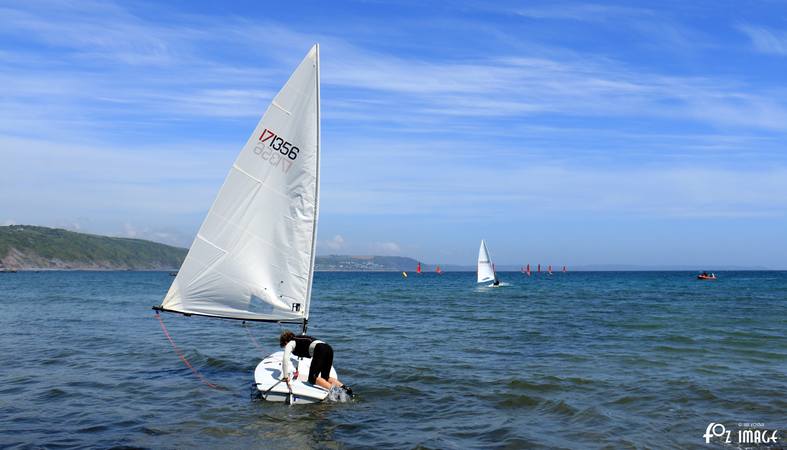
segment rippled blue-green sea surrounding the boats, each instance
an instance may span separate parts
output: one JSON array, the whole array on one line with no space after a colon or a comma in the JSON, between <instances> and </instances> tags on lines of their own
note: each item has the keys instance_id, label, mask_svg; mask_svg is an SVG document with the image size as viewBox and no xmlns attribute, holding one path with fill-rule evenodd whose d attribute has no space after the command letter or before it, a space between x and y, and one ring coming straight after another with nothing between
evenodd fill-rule
<instances>
[{"instance_id":1,"label":"rippled blue-green sea surrounding the boats","mask_svg":"<svg viewBox=\"0 0 787 450\"><path fill-rule=\"evenodd\" d=\"M357 395L288 406L251 395L283 326L162 313L198 378L151 310L167 272L0 274L0 447L787 445L787 272L409 275L315 275Z\"/></svg>"}]
</instances>

